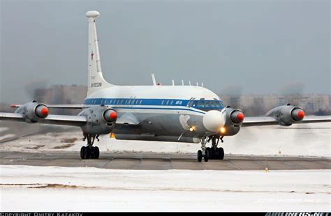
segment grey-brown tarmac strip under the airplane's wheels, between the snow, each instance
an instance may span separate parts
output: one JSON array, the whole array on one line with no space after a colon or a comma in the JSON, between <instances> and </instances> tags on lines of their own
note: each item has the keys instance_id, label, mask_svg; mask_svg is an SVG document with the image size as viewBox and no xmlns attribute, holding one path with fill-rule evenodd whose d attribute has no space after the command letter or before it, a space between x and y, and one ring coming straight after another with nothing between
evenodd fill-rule
<instances>
[{"instance_id":1,"label":"grey-brown tarmac strip under the airplane's wheels, between the snow","mask_svg":"<svg viewBox=\"0 0 331 216\"><path fill-rule=\"evenodd\" d=\"M1 165L96 167L102 169L293 170L331 169L330 158L225 155L224 160L198 162L195 154L100 153L99 159L80 159L79 152L0 152Z\"/></svg>"}]
</instances>

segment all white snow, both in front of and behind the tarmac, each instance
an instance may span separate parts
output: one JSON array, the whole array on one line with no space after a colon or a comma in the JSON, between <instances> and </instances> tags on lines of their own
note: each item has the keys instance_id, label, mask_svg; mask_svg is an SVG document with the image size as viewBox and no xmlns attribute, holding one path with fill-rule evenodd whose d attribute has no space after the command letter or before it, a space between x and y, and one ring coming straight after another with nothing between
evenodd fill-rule
<instances>
[{"instance_id":1,"label":"all white snow, both in front of and behind the tarmac","mask_svg":"<svg viewBox=\"0 0 331 216\"><path fill-rule=\"evenodd\" d=\"M68 128L70 129L70 128ZM57 131L57 130L54 130ZM0 141L12 135L0 128ZM226 154L331 157L331 123L242 128ZM80 151L80 130L20 137L0 151ZM96 142L101 151L196 153L200 144ZM0 211L328 211L330 170L189 171L0 165Z\"/></svg>"}]
</instances>

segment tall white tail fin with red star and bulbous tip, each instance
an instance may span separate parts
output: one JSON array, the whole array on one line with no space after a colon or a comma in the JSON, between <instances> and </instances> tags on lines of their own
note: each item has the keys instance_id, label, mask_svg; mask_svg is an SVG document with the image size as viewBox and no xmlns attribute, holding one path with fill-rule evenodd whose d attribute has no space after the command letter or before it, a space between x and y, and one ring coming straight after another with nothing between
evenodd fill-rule
<instances>
[{"instance_id":1,"label":"tall white tail fin with red star and bulbous tip","mask_svg":"<svg viewBox=\"0 0 331 216\"><path fill-rule=\"evenodd\" d=\"M85 14L89 18L89 68L87 82L87 97L103 88L112 86L103 79L101 61L98 47L98 37L96 36L96 17L100 15L98 11L91 10Z\"/></svg>"}]
</instances>

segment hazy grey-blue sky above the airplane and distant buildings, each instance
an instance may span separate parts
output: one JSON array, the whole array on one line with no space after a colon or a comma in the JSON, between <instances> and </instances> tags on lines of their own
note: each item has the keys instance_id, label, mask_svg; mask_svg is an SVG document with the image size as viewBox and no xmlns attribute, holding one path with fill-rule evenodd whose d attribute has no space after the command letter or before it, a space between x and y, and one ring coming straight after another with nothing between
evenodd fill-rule
<instances>
[{"instance_id":1,"label":"hazy grey-blue sky above the airplane and distant buildings","mask_svg":"<svg viewBox=\"0 0 331 216\"><path fill-rule=\"evenodd\" d=\"M101 13L101 65L113 84L149 85L155 73L216 93L291 84L330 93L330 1L0 2L0 102L27 102L36 86L87 84L87 10Z\"/></svg>"}]
</instances>

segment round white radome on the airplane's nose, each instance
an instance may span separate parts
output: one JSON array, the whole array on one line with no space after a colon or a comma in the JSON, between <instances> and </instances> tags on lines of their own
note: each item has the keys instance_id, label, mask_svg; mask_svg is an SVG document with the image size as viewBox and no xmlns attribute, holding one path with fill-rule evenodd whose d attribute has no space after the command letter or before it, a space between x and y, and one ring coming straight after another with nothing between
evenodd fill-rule
<instances>
[{"instance_id":1,"label":"round white radome on the airplane's nose","mask_svg":"<svg viewBox=\"0 0 331 216\"><path fill-rule=\"evenodd\" d=\"M203 126L209 132L217 132L223 125L224 120L220 111L210 110L203 116Z\"/></svg>"}]
</instances>

